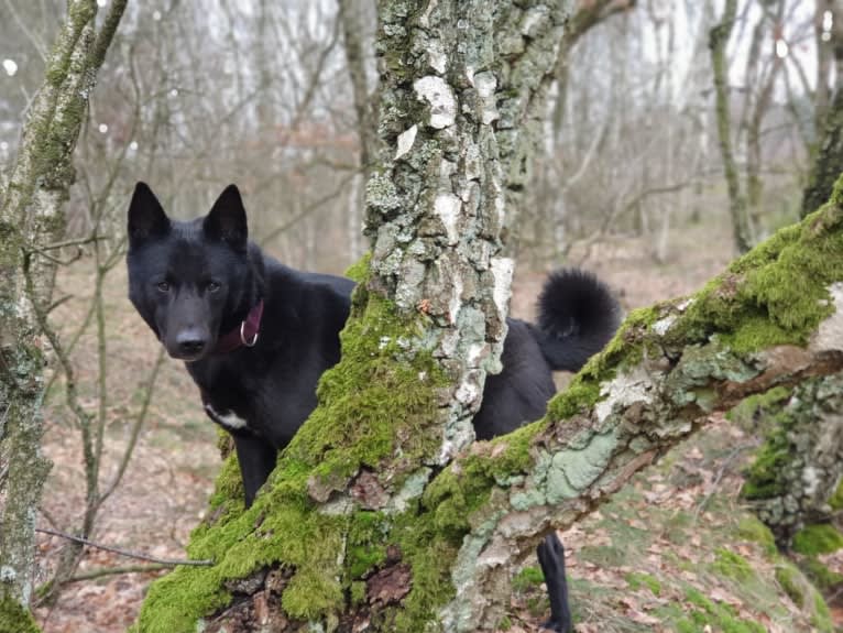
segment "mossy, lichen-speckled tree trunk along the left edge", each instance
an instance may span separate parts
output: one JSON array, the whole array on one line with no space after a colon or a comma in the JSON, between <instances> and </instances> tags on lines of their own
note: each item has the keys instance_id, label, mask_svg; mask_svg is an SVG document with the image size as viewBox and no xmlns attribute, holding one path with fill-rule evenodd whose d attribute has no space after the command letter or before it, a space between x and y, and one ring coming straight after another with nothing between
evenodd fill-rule
<instances>
[{"instance_id":1,"label":"mossy, lichen-speckled tree trunk along the left edge","mask_svg":"<svg viewBox=\"0 0 843 633\"><path fill-rule=\"evenodd\" d=\"M32 590L34 526L50 468L41 454L44 350L41 319L50 304L52 244L64 232L63 204L74 179L72 154L125 2L112 2L99 32L97 3L73 0L47 61L46 78L26 112L20 149L0 193L0 448L8 460L0 514L0 601L19 610ZM0 615L0 629L7 624Z\"/></svg>"}]
</instances>

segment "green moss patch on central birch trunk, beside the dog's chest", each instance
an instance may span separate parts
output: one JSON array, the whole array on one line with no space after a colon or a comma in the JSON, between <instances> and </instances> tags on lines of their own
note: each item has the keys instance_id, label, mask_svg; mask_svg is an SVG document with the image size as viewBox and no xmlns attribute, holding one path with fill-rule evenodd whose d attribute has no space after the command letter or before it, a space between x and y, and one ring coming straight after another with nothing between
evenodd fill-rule
<instances>
[{"instance_id":1,"label":"green moss patch on central birch trunk, beside the dog's chest","mask_svg":"<svg viewBox=\"0 0 843 633\"><path fill-rule=\"evenodd\" d=\"M436 395L448 381L429 352L410 351L425 317L407 323L390 302L361 288L354 302L362 313L354 316L363 318L342 330L342 361L322 374L320 406L286 450L327 488L341 488L361 467L376 469L396 450L413 463L441 439Z\"/></svg>"}]
</instances>

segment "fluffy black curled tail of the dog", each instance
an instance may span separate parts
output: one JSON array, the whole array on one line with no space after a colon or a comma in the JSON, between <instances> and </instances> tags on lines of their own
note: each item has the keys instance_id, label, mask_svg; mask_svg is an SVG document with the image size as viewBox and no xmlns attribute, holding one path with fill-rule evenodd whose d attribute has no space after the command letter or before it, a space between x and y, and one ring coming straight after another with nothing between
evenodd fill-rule
<instances>
[{"instance_id":1,"label":"fluffy black curled tail of the dog","mask_svg":"<svg viewBox=\"0 0 843 633\"><path fill-rule=\"evenodd\" d=\"M533 334L554 370L578 371L603 349L621 321L606 285L578 269L551 273L538 297Z\"/></svg>"}]
</instances>

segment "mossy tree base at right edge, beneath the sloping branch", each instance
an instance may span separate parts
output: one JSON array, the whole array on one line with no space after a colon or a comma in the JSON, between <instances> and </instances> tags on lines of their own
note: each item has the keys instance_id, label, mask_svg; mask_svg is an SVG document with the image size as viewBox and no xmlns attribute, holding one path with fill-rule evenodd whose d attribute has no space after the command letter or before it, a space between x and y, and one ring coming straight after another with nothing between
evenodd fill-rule
<instances>
[{"instance_id":1,"label":"mossy tree base at right edge, beneath the sloping branch","mask_svg":"<svg viewBox=\"0 0 843 633\"><path fill-rule=\"evenodd\" d=\"M828 521L841 505L841 414L843 372L808 380L792 391L773 389L732 413L764 437L742 494L781 547L790 546L806 522Z\"/></svg>"}]
</instances>

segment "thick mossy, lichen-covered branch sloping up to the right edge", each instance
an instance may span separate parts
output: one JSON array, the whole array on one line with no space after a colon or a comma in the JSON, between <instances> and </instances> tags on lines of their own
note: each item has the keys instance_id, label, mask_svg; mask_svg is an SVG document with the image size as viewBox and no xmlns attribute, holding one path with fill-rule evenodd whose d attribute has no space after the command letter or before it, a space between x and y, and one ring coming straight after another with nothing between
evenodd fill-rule
<instances>
[{"instance_id":1,"label":"thick mossy, lichen-covered branch sloping up to the right edge","mask_svg":"<svg viewBox=\"0 0 843 633\"><path fill-rule=\"evenodd\" d=\"M699 294L633 313L545 421L474 445L431 483L424 505L464 534L453 613L497 614L521 553L711 413L843 369L842 194Z\"/></svg>"}]
</instances>

